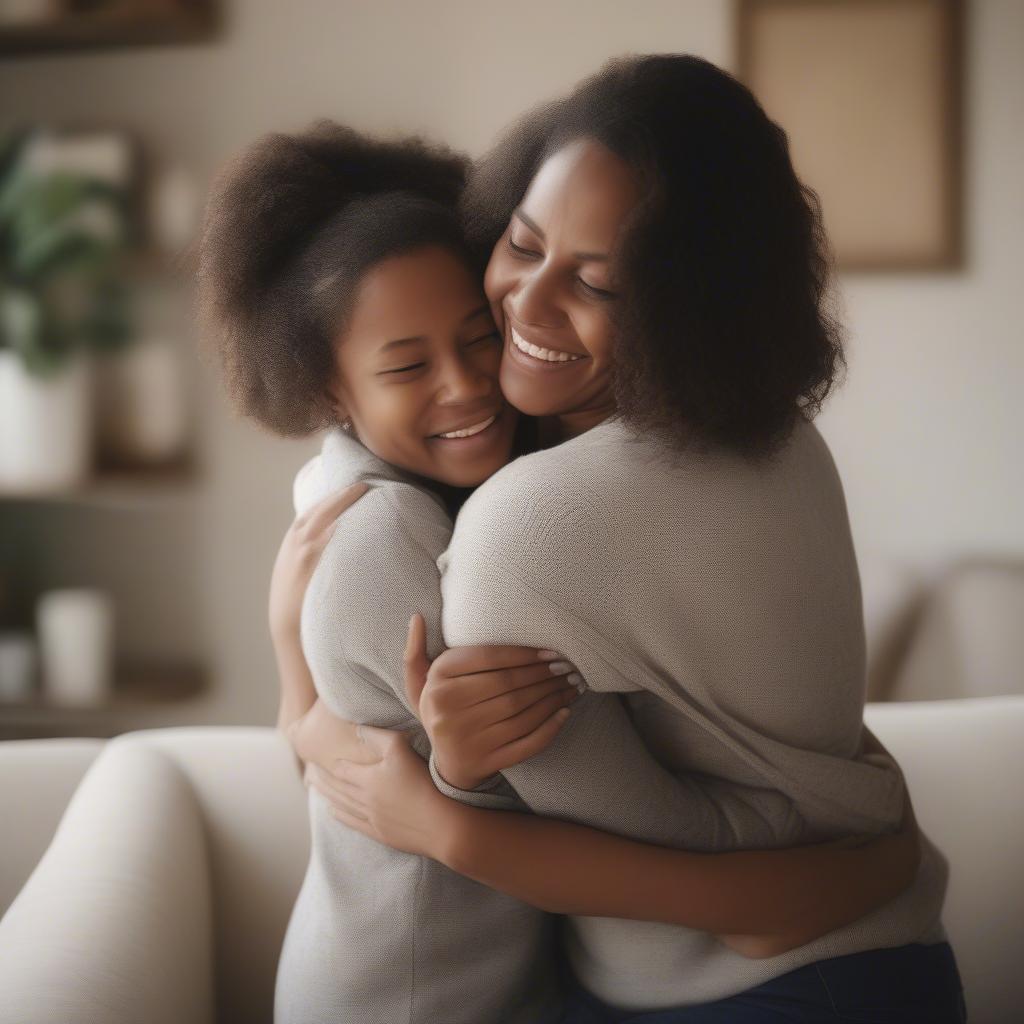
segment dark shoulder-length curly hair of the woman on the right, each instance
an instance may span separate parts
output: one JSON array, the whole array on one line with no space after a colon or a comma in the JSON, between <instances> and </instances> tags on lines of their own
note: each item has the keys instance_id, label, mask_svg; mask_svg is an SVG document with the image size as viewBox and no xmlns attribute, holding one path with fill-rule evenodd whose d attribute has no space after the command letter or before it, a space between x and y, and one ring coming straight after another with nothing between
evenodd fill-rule
<instances>
[{"instance_id":1,"label":"dark shoulder-length curly hair of the woman on the right","mask_svg":"<svg viewBox=\"0 0 1024 1024\"><path fill-rule=\"evenodd\" d=\"M461 209L478 257L544 161L580 138L620 156L641 185L616 254L621 413L678 446L767 453L817 413L845 365L820 208L785 133L707 60L610 60L477 164Z\"/></svg>"}]
</instances>

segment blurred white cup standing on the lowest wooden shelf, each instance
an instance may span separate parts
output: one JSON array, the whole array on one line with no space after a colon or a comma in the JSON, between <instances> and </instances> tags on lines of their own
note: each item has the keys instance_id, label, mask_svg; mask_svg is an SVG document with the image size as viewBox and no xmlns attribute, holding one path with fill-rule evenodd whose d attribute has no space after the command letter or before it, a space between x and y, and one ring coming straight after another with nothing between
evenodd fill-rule
<instances>
[{"instance_id":1,"label":"blurred white cup standing on the lowest wooden shelf","mask_svg":"<svg viewBox=\"0 0 1024 1024\"><path fill-rule=\"evenodd\" d=\"M43 692L59 705L94 707L114 689L114 604L101 590L51 590L36 608Z\"/></svg>"}]
</instances>

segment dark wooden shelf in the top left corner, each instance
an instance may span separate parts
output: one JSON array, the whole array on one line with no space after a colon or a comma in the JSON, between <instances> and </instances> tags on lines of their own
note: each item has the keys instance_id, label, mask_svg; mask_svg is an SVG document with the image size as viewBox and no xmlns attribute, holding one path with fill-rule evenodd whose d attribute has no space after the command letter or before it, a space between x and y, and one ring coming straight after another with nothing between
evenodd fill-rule
<instances>
[{"instance_id":1,"label":"dark wooden shelf in the top left corner","mask_svg":"<svg viewBox=\"0 0 1024 1024\"><path fill-rule=\"evenodd\" d=\"M219 17L213 3L137 5L127 11L51 16L20 25L0 25L0 57L36 53L198 43L215 38Z\"/></svg>"}]
</instances>

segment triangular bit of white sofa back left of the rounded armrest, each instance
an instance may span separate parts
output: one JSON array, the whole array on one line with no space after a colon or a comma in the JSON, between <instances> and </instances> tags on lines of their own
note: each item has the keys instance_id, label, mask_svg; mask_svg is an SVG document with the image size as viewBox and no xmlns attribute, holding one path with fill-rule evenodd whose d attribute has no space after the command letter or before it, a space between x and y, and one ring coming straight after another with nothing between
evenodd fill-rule
<instances>
[{"instance_id":1,"label":"triangular bit of white sofa back left of the rounded armrest","mask_svg":"<svg viewBox=\"0 0 1024 1024\"><path fill-rule=\"evenodd\" d=\"M39 862L102 739L0 742L0 918Z\"/></svg>"}]
</instances>

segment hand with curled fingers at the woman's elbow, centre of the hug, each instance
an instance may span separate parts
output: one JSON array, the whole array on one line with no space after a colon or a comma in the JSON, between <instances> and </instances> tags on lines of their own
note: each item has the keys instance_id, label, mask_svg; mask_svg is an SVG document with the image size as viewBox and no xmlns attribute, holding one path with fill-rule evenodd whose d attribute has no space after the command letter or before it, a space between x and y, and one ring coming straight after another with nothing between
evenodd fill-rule
<instances>
[{"instance_id":1,"label":"hand with curled fingers at the woman's elbow, centre of the hug","mask_svg":"<svg viewBox=\"0 0 1024 1024\"><path fill-rule=\"evenodd\" d=\"M571 665L535 647L452 647L431 663L419 614L409 624L404 667L437 770L460 790L543 751L584 687Z\"/></svg>"}]
</instances>

